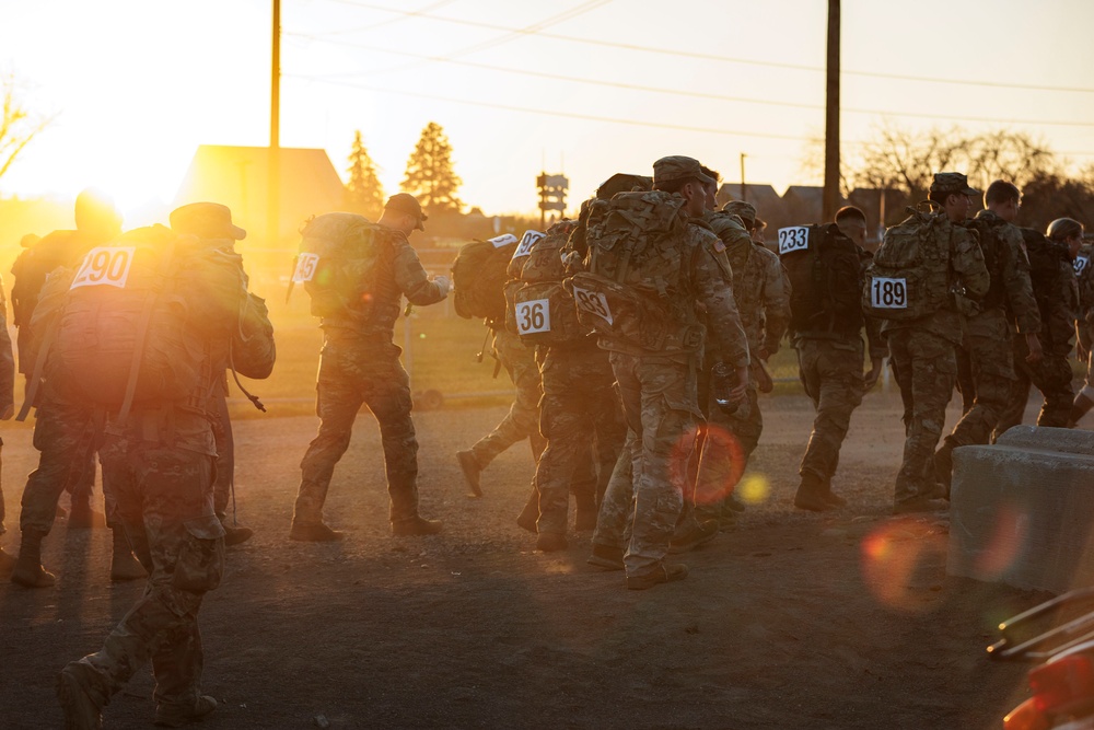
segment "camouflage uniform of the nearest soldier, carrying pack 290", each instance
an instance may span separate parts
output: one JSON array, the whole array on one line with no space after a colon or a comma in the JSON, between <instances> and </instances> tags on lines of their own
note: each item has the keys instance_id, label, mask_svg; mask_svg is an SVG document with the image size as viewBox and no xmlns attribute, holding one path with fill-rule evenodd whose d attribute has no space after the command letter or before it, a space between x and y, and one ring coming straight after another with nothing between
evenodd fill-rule
<instances>
[{"instance_id":1,"label":"camouflage uniform of the nearest soldier, carrying pack 290","mask_svg":"<svg viewBox=\"0 0 1094 730\"><path fill-rule=\"evenodd\" d=\"M225 280L242 282L237 257L222 269ZM246 297L242 287L238 297ZM272 326L259 302L251 298L242 318L241 300L218 302L212 311L219 310L220 316L202 318L190 332L205 344L206 358L202 382L189 398L136 408L124 424L116 415L108 419L100 451L107 509L125 529L149 579L144 594L103 648L62 671L62 677L74 677L98 707L148 659L155 675L158 717L193 711L201 696L197 614L206 592L220 584L224 572L224 530L212 496L217 450L210 394L222 374L214 363L217 352L234 339L238 371L252 378L269 374ZM62 705L67 712L73 709L63 695Z\"/></svg>"}]
</instances>

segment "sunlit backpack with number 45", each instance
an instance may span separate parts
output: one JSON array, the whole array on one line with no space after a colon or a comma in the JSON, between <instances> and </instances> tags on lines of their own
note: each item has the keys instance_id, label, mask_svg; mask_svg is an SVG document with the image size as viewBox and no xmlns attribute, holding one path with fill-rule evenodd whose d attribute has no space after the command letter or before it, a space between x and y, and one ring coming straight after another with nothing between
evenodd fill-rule
<instances>
[{"instance_id":1,"label":"sunlit backpack with number 45","mask_svg":"<svg viewBox=\"0 0 1094 730\"><path fill-rule=\"evenodd\" d=\"M289 293L302 285L311 297L313 316L348 312L375 286L377 262L386 231L357 213L324 213L301 229L300 252L293 259Z\"/></svg>"}]
</instances>

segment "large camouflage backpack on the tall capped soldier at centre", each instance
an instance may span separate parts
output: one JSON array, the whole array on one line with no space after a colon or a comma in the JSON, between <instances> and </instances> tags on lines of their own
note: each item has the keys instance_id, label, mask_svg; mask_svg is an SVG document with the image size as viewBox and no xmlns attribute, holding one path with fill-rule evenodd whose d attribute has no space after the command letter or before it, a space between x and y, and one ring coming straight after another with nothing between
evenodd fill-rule
<instances>
[{"instance_id":1,"label":"large camouflage backpack on the tall capped soldier at centre","mask_svg":"<svg viewBox=\"0 0 1094 730\"><path fill-rule=\"evenodd\" d=\"M584 271L565 281L578 321L601 345L640 354L696 352L703 328L684 291L690 224L684 198L660 190L619 193L589 208Z\"/></svg>"}]
</instances>

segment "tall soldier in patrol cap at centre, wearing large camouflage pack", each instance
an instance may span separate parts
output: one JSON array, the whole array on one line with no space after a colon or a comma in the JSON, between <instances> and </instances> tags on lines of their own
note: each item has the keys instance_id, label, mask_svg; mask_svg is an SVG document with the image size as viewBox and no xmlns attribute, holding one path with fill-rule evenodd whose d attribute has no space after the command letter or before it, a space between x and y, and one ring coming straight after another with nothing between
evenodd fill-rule
<instances>
[{"instance_id":1,"label":"tall soldier in patrol cap at centre, wearing large camouflage pack","mask_svg":"<svg viewBox=\"0 0 1094 730\"><path fill-rule=\"evenodd\" d=\"M702 173L698 161L685 157L662 158L654 163L653 172L654 194L641 194L644 196L643 201L675 200L683 205L686 216L693 219L703 216L706 186L713 181ZM655 194L659 190L672 195L657 196ZM620 196L616 196L612 205L617 201L619 205L625 202L620 200ZM591 231L593 227L591 215ZM620 276L619 270L627 269L626 266L619 267L614 257L629 258L629 255L601 250L592 237L589 243L590 260L604 262L594 266L596 270L610 270L615 265L616 275ZM714 333L713 345L722 351L734 372L732 396L740 401L747 387L748 352L733 301L729 263L718 251L720 245L715 246L718 242L713 234L701 223L688 222L678 243L683 248L675 266L670 259L653 257L651 254L645 257L640 271L633 268L630 271L653 291L657 291L657 282L662 282L662 287L664 282L678 282L668 285L671 289L665 288L664 291L666 304L673 312L673 326L679 327L682 333L701 333L695 306L706 306L708 323ZM657 262L675 270L654 270ZM575 275L573 279L575 291L580 276ZM590 279L591 283L593 281L594 279ZM590 310L596 310L593 299L586 297L584 301ZM582 301L579 298L579 310L581 309ZM603 314L600 316L605 318ZM616 326L612 322L608 324ZM680 335L680 341L685 345L678 350L647 349L654 345L642 346L629 339L637 333L625 329L628 326L635 325L620 322L619 329L602 333L601 347L610 352L612 369L630 427L625 448L630 449L632 456L635 507L630 545L624 563L627 587L642 590L687 577L686 566L668 565L664 558L682 507L686 482L684 464L694 448L695 425L699 417L695 383L698 349L687 346L690 338L686 334ZM626 332L630 334L624 334ZM701 334L698 339L701 340ZM701 348L701 341L694 345ZM615 482L613 475L613 483ZM605 508L607 505L606 498ZM604 508L601 515L604 517Z\"/></svg>"}]
</instances>

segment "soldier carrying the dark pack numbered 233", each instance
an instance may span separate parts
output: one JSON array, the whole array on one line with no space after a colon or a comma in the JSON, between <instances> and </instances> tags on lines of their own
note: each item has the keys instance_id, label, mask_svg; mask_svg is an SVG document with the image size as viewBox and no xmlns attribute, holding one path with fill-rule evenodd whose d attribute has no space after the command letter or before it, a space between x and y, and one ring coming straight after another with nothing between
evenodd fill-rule
<instances>
[{"instance_id":1,"label":"soldier carrying the dark pack numbered 233","mask_svg":"<svg viewBox=\"0 0 1094 730\"><path fill-rule=\"evenodd\" d=\"M827 317L810 317L806 324L794 328L792 333L794 349L798 350L799 376L816 410L813 432L799 467L802 482L794 496L794 506L814 512L847 503L847 500L831 490L831 478L839 464L839 450L847 438L851 414L862 403L863 394L870 392L877 382L882 360L887 354L881 338L881 323L866 317L864 324L870 371L863 375L863 318L858 311L858 301L863 287L863 274L870 262L870 254L863 248L866 242L866 217L859 208L846 206L836 211L834 221L840 233L853 242L859 260L853 278L849 277L849 281L845 282L850 289L846 293L854 302L857 311L850 316L834 312ZM824 299L834 301L835 297Z\"/></svg>"}]
</instances>

